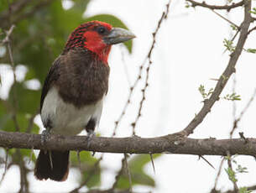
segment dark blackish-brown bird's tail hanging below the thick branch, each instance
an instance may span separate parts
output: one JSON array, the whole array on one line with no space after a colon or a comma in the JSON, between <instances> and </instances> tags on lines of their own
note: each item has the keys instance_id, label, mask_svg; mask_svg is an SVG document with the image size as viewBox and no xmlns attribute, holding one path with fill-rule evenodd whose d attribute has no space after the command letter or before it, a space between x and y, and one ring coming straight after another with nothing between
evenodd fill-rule
<instances>
[{"instance_id":1,"label":"dark blackish-brown bird's tail hanging below the thick branch","mask_svg":"<svg viewBox=\"0 0 256 193\"><path fill-rule=\"evenodd\" d=\"M34 167L38 180L65 181L69 174L69 151L40 150Z\"/></svg>"}]
</instances>

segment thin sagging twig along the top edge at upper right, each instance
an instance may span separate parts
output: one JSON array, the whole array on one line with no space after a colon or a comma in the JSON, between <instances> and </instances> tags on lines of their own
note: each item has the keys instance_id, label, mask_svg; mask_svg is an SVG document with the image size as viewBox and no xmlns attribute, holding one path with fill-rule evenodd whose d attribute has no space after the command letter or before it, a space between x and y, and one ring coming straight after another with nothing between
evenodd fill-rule
<instances>
[{"instance_id":1,"label":"thin sagging twig along the top edge at upper right","mask_svg":"<svg viewBox=\"0 0 256 193\"><path fill-rule=\"evenodd\" d=\"M229 12L232 8L238 8L240 6L243 6L244 4L244 0L238 3L232 3L231 5L209 5L209 4L206 4L205 2L198 3L193 0L186 0L186 1L190 2L191 7L193 8L195 8L196 6L199 6L199 7L210 8L210 9L222 9L222 10L224 9L224 10L227 10L227 12Z\"/></svg>"}]
</instances>

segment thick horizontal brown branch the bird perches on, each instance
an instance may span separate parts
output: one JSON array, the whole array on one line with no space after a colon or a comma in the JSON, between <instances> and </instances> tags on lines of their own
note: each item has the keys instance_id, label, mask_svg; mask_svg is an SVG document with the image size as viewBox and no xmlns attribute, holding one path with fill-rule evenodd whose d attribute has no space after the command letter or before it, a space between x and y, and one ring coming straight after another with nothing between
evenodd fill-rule
<instances>
[{"instance_id":1,"label":"thick horizontal brown branch the bird perches on","mask_svg":"<svg viewBox=\"0 0 256 193\"><path fill-rule=\"evenodd\" d=\"M41 135L30 133L0 132L0 147L19 149L86 150L93 152L127 154L195 154L195 155L230 155L256 154L256 138L233 139L195 139L184 138L179 133L157 138L102 138L95 137L88 148L85 136L65 137L51 135L45 145Z\"/></svg>"}]
</instances>

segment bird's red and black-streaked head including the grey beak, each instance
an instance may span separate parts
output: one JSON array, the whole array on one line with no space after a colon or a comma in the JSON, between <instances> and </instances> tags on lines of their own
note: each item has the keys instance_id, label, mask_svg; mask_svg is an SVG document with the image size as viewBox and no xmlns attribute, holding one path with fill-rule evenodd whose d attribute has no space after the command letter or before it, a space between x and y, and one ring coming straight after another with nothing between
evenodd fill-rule
<instances>
[{"instance_id":1,"label":"bird's red and black-streaked head including the grey beak","mask_svg":"<svg viewBox=\"0 0 256 193\"><path fill-rule=\"evenodd\" d=\"M97 55L107 64L112 44L118 44L135 36L125 29L112 28L109 23L91 21L78 26L65 44L65 51L80 47Z\"/></svg>"}]
</instances>

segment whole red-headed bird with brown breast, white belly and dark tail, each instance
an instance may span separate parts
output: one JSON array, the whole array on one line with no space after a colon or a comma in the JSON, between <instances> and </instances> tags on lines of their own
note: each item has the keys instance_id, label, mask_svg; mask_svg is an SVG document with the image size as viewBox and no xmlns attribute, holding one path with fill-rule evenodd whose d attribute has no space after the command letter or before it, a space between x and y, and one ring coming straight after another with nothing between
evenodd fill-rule
<instances>
[{"instance_id":1,"label":"whole red-headed bird with brown breast, white belly and dark tail","mask_svg":"<svg viewBox=\"0 0 256 193\"><path fill-rule=\"evenodd\" d=\"M93 136L102 114L108 90L112 44L135 35L111 24L90 21L79 25L69 36L65 48L55 59L44 80L40 115L44 125L42 143L50 134L75 136L86 130ZM65 181L69 174L67 150L39 151L34 176L38 180Z\"/></svg>"}]
</instances>

